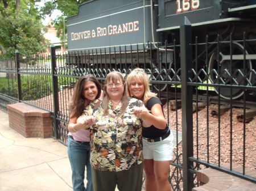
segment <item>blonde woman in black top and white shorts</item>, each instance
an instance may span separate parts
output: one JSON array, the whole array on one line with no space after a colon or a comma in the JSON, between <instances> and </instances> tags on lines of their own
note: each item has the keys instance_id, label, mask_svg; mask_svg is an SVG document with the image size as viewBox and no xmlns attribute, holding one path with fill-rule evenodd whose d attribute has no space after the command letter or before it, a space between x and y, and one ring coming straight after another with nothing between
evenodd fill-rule
<instances>
[{"instance_id":1,"label":"blonde woman in black top and white shorts","mask_svg":"<svg viewBox=\"0 0 256 191\"><path fill-rule=\"evenodd\" d=\"M137 111L136 116L149 121L143 124L143 158L146 173L146 191L170 191L168 172L172 160L173 136L166 124L163 106L156 94L150 91L150 80L143 69L134 69L127 76L127 93L142 100L147 109Z\"/></svg>"}]
</instances>

